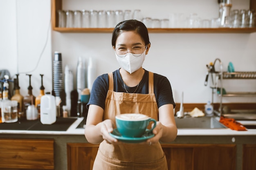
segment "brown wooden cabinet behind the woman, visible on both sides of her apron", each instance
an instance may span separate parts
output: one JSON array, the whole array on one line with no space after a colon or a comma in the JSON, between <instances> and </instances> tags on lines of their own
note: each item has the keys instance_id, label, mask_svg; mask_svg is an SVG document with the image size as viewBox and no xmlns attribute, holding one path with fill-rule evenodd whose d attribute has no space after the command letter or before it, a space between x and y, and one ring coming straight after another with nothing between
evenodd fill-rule
<instances>
[{"instance_id":1,"label":"brown wooden cabinet behind the woman, visible on both sides of her apron","mask_svg":"<svg viewBox=\"0 0 256 170\"><path fill-rule=\"evenodd\" d=\"M98 145L67 144L68 170L92 170ZM168 170L234 170L234 144L162 144Z\"/></svg>"}]
</instances>

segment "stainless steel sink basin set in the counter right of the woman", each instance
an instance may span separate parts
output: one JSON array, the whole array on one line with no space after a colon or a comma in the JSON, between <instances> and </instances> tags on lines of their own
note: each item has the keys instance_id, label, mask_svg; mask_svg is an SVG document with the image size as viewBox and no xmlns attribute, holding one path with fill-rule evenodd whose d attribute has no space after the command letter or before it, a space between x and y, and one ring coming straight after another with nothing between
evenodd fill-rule
<instances>
[{"instance_id":1,"label":"stainless steel sink basin set in the counter right of the woman","mask_svg":"<svg viewBox=\"0 0 256 170\"><path fill-rule=\"evenodd\" d=\"M175 117L177 128L216 129L227 128L214 117Z\"/></svg>"}]
</instances>

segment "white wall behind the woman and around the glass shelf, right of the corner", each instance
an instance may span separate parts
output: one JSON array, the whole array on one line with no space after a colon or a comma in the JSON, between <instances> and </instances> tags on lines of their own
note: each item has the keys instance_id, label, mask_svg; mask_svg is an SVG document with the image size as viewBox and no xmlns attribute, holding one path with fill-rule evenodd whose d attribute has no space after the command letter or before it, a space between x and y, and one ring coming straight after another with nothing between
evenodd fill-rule
<instances>
[{"instance_id":1,"label":"white wall behind the woman and around the glass shelf, right of the corner","mask_svg":"<svg viewBox=\"0 0 256 170\"><path fill-rule=\"evenodd\" d=\"M102 2L102 3L100 3ZM141 9L144 17L168 18L169 13L181 12L185 15L196 12L200 18L218 17L217 0L160 0L160 1L95 1L63 0L63 9ZM233 1L233 9L249 9L249 0ZM98 75L119 68L111 46L111 33L59 33L52 32L52 50L61 51L64 64L76 70L79 56L97 59ZM231 61L236 71L256 71L256 33L150 33L151 47L143 67L168 77L175 92L176 102L180 102L184 91L185 103L206 103L211 100L211 88L204 86L206 64L220 58L224 70ZM218 62L217 62L218 67ZM247 83L229 81L225 89L233 91L256 91L256 81ZM249 83L248 83L249 82ZM236 86L229 87L231 84ZM219 102L214 95L214 102ZM256 102L256 97L224 98L223 102Z\"/></svg>"}]
</instances>

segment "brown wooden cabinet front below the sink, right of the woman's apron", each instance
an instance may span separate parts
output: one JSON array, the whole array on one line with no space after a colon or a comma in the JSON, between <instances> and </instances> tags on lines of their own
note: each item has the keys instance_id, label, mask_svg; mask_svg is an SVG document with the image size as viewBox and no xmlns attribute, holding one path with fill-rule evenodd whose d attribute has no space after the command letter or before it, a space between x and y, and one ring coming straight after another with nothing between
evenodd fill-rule
<instances>
[{"instance_id":1,"label":"brown wooden cabinet front below the sink, right of the woman's apron","mask_svg":"<svg viewBox=\"0 0 256 170\"><path fill-rule=\"evenodd\" d=\"M169 170L234 170L234 144L162 144Z\"/></svg>"}]
</instances>

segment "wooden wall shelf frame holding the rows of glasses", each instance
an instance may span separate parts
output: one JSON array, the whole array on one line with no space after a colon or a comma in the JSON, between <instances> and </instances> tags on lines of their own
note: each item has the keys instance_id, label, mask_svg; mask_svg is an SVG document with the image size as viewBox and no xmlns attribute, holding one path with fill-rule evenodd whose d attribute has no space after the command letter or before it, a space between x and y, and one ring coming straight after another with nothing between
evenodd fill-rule
<instances>
[{"instance_id":1,"label":"wooden wall shelf frame holding the rows of glasses","mask_svg":"<svg viewBox=\"0 0 256 170\"><path fill-rule=\"evenodd\" d=\"M161 3L161 2L159 2ZM58 32L75 33L112 33L113 28L60 28L58 27L58 10L62 9L62 0L52 0L52 29ZM256 11L256 0L250 0L250 9ZM149 33L252 33L256 28L149 28Z\"/></svg>"}]
</instances>

